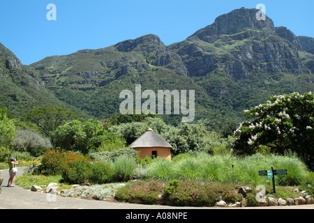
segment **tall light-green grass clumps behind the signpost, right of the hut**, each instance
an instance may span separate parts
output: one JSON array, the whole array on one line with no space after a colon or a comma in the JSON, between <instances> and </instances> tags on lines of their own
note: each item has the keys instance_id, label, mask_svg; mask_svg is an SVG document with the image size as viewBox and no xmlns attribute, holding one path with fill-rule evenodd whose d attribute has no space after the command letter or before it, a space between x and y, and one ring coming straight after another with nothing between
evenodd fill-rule
<instances>
[{"instance_id":1,"label":"tall light-green grass clumps behind the signpost, right of the hut","mask_svg":"<svg viewBox=\"0 0 314 223\"><path fill-rule=\"evenodd\" d=\"M277 176L277 185L299 185L308 174L306 165L294 155L261 155L246 157L233 155L208 155L200 153L183 158L174 157L172 162L159 160L147 167L146 178L155 180L205 180L218 183L234 181L251 185L264 185L267 176L259 176L260 170L287 169L287 176Z\"/></svg>"}]
</instances>

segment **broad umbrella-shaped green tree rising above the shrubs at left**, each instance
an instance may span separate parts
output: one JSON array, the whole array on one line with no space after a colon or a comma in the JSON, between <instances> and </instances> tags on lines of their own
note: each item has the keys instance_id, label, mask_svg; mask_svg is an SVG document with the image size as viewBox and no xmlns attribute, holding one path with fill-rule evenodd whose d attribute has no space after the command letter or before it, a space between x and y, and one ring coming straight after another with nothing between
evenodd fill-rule
<instances>
[{"instance_id":1,"label":"broad umbrella-shaped green tree rising above the shrubs at left","mask_svg":"<svg viewBox=\"0 0 314 223\"><path fill-rule=\"evenodd\" d=\"M50 132L56 130L59 125L74 119L80 119L80 117L66 109L46 107L31 109L21 118L22 121L35 123L47 137L50 137Z\"/></svg>"}]
</instances>

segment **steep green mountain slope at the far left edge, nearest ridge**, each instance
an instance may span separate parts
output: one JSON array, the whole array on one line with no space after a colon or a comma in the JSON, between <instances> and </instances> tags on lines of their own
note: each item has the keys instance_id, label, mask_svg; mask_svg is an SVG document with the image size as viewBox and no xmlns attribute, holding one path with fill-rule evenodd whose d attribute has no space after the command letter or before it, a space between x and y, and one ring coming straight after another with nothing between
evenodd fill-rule
<instances>
[{"instance_id":1,"label":"steep green mountain slope at the far left edge, nearest ridge","mask_svg":"<svg viewBox=\"0 0 314 223\"><path fill-rule=\"evenodd\" d=\"M47 91L36 70L23 66L17 56L1 43L0 96L0 107L7 107L10 117L22 116L34 107L68 108L65 102L61 102ZM80 114L75 107L70 109Z\"/></svg>"}]
</instances>

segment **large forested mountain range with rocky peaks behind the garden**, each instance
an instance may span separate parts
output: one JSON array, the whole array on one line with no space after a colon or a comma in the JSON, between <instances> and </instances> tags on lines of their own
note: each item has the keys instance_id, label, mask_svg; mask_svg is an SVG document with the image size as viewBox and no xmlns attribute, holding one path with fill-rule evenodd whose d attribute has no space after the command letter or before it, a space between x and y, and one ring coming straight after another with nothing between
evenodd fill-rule
<instances>
[{"instance_id":1,"label":"large forested mountain range with rocky peaks behind the garden","mask_svg":"<svg viewBox=\"0 0 314 223\"><path fill-rule=\"evenodd\" d=\"M49 56L22 66L59 101L94 116L119 113L119 93L195 90L195 121L230 131L243 110L269 95L314 90L314 39L295 36L274 22L256 20L256 9L240 8L186 40L166 46L149 34L102 49ZM31 86L29 86L31 89ZM169 123L181 117L164 115Z\"/></svg>"}]
</instances>

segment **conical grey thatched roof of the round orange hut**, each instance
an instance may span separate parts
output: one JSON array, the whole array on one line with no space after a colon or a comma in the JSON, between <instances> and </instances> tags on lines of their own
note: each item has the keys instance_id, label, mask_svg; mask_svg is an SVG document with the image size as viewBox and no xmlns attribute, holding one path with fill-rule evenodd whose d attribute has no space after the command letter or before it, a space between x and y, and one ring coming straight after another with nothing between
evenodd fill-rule
<instances>
[{"instance_id":1,"label":"conical grey thatched roof of the round orange hut","mask_svg":"<svg viewBox=\"0 0 314 223\"><path fill-rule=\"evenodd\" d=\"M172 146L160 137L156 132L149 128L142 136L136 139L131 148L139 147L165 147L172 148Z\"/></svg>"}]
</instances>

